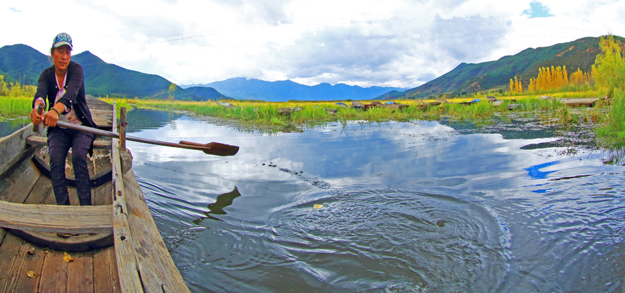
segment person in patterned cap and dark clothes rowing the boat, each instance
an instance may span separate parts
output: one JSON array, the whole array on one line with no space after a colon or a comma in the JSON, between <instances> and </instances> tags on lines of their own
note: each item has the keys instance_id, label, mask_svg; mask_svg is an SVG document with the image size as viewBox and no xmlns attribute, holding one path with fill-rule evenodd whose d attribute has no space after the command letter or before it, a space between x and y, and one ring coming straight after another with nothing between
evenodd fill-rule
<instances>
[{"instance_id":1,"label":"person in patterned cap and dark clothes rowing the boat","mask_svg":"<svg viewBox=\"0 0 625 293\"><path fill-rule=\"evenodd\" d=\"M58 121L95 127L85 99L83 67L70 60L72 57L72 37L69 37L67 33L56 35L50 49L50 55L53 66L44 69L39 76L37 92L33 99L31 122L35 126L42 123L49 126L50 177L56 203L69 206L69 194L65 179L65 158L71 147L78 201L81 206L91 206L87 153L92 149L95 135L69 128L55 127ZM48 111L38 112L38 107L47 108Z\"/></svg>"}]
</instances>

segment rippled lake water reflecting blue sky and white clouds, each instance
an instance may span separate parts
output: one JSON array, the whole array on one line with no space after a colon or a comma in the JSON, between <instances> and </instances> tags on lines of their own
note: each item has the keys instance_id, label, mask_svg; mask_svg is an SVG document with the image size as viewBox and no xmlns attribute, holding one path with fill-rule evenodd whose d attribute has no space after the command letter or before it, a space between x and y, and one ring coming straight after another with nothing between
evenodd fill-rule
<instances>
[{"instance_id":1,"label":"rippled lake water reflecting blue sky and white clouds","mask_svg":"<svg viewBox=\"0 0 625 293\"><path fill-rule=\"evenodd\" d=\"M624 167L550 119L327 124L261 133L151 110L128 142L192 292L625 288ZM315 205L322 205L315 208Z\"/></svg>"}]
</instances>

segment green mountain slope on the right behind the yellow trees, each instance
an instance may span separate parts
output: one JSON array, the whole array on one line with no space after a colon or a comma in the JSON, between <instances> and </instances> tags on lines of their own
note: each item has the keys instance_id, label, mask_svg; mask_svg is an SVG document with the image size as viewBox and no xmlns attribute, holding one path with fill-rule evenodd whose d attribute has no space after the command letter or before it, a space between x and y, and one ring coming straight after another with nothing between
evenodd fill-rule
<instances>
[{"instance_id":1,"label":"green mountain slope on the right behind the yellow trees","mask_svg":"<svg viewBox=\"0 0 625 293\"><path fill-rule=\"evenodd\" d=\"M623 40L622 37L617 37ZM462 63L433 81L403 92L404 99L419 99L431 95L466 94L494 88L507 88L510 78L517 76L522 84L537 76L540 67L566 66L572 74L578 68L590 72L594 59L601 53L598 37L585 37L551 47L525 49L515 56L478 64Z\"/></svg>"}]
</instances>

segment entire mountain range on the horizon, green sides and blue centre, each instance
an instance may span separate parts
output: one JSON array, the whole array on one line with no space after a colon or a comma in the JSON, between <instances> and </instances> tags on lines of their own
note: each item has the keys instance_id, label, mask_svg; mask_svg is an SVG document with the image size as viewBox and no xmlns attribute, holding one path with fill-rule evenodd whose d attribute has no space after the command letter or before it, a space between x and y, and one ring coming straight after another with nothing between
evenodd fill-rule
<instances>
[{"instance_id":1,"label":"entire mountain range on the horizon, green sides and blue centre","mask_svg":"<svg viewBox=\"0 0 625 293\"><path fill-rule=\"evenodd\" d=\"M625 43L622 37L615 40ZM625 51L625 50L624 50ZM85 72L86 92L95 97L139 97L206 101L208 99L252 99L262 101L333 101L367 99L422 99L441 94L468 94L482 91L506 91L510 78L517 76L524 85L535 77L540 67L566 66L569 74L577 68L590 72L601 53L598 37L585 37L550 47L529 48L514 56L477 64L462 63L450 72L410 90L396 87L359 87L339 83L302 85L294 81L261 81L230 78L203 85L172 85L167 79L144 74L104 62L90 51L72 56ZM51 66L49 56L24 44L0 48L0 75L5 81L36 85L40 72Z\"/></svg>"}]
</instances>

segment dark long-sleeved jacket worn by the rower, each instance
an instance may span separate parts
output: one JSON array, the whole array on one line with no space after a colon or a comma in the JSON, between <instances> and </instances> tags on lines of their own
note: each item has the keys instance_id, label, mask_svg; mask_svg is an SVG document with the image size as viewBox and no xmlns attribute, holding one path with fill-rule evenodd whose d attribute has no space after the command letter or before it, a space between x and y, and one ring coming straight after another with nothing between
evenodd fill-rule
<instances>
[{"instance_id":1,"label":"dark long-sleeved jacket worn by the rower","mask_svg":"<svg viewBox=\"0 0 625 293\"><path fill-rule=\"evenodd\" d=\"M50 110L54 106L54 99L56 99L58 90L54 66L44 69L39 76L37 93L35 93L35 98L33 99L33 108L35 107L35 100L41 97L47 100L48 110ZM80 64L69 61L69 65L67 65L67 81L65 81L65 94L57 102L63 103L65 108L69 110L74 109L76 116L83 122L84 126L96 127L91 117L91 111L87 106L83 67Z\"/></svg>"}]
</instances>

